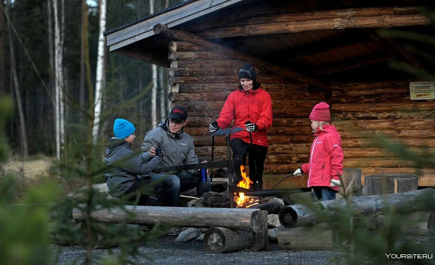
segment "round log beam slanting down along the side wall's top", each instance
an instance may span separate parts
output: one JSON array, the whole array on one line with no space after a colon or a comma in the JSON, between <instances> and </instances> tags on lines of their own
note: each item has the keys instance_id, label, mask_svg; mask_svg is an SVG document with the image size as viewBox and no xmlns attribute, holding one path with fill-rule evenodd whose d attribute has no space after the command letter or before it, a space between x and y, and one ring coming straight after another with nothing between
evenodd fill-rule
<instances>
[{"instance_id":1,"label":"round log beam slanting down along the side wall's top","mask_svg":"<svg viewBox=\"0 0 435 265\"><path fill-rule=\"evenodd\" d=\"M218 52L220 54L226 55L228 57L250 62L251 64L255 65L255 67L258 68L265 68L274 70L275 72L282 74L283 76L291 77L297 81L311 84L317 87L324 88L326 90L330 90L331 87L328 84L324 84L321 81L314 79L312 77L308 77L306 75L300 74L298 72L295 72L293 70L279 67L275 64L272 64L268 61L265 61L263 59L260 59L258 57L254 57L248 54L243 54L241 52L238 52L236 50L232 50L228 47L225 47L220 44L212 43L208 40L204 40L203 38L197 36L196 34L192 34L190 32L184 31L184 30L178 30L178 29L169 29L167 25L164 24L157 24L154 26L154 34L162 34L166 37L170 37L174 40L181 40L181 41L187 41L190 43L193 43L195 45L207 48L211 51Z\"/></svg>"}]
</instances>

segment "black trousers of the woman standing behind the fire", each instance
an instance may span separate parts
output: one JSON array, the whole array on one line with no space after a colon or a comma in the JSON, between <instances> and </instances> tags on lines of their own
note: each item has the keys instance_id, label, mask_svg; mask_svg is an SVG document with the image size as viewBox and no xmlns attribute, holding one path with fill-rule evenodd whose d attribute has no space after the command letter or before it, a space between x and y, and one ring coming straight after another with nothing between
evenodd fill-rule
<instances>
[{"instance_id":1,"label":"black trousers of the woman standing behind the fire","mask_svg":"<svg viewBox=\"0 0 435 265\"><path fill-rule=\"evenodd\" d=\"M233 150L233 168L235 176L233 184L238 184L241 181L240 165L246 165L246 157L249 161L249 178L254 182L254 189L261 189L263 185L264 160L268 148L258 144L248 144L239 138L234 138L231 141L231 149Z\"/></svg>"}]
</instances>

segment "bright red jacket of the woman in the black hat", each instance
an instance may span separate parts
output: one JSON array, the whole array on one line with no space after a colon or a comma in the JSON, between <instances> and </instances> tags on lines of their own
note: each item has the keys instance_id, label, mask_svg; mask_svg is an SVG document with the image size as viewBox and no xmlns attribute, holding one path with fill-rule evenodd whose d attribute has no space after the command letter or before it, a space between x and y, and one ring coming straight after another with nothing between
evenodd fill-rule
<instances>
[{"instance_id":1,"label":"bright red jacket of the woman in the black hat","mask_svg":"<svg viewBox=\"0 0 435 265\"><path fill-rule=\"evenodd\" d=\"M257 125L258 131L252 132L252 143L262 146L269 146L266 130L272 125L272 100L268 92L261 87L256 90L245 91L238 89L228 95L221 114L219 114L218 125L226 128L234 119L235 127L245 129L245 122L252 121ZM246 143L251 143L248 131L239 131L231 134L230 139L240 138Z\"/></svg>"}]
</instances>

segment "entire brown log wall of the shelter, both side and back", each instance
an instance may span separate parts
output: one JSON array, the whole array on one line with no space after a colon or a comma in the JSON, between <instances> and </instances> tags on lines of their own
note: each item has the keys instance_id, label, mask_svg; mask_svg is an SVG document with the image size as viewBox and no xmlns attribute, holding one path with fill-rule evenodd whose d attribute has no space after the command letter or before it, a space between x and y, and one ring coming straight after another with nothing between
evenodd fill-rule
<instances>
[{"instance_id":1,"label":"entire brown log wall of the shelter, both side and back","mask_svg":"<svg viewBox=\"0 0 435 265\"><path fill-rule=\"evenodd\" d=\"M228 94L237 89L238 70L244 62L181 41L171 42L168 59L168 81L172 85L168 97L172 106L186 107L186 131L194 139L200 161L210 161L208 125L218 118ZM331 104L332 123L341 134L345 152L344 166L361 168L363 184L365 175L382 171L418 174L419 186L435 186L434 169L417 172L412 161L399 160L376 142L383 134L418 154L428 153L421 147L435 147L435 101L411 101L408 81L331 84L331 97L325 89L297 84L268 69L256 67L256 71L261 87L271 95L273 108L264 188L308 162L313 140L308 115L320 101ZM214 160L226 158L224 137L215 138L214 152ZM288 178L277 188L295 186L305 187L306 180Z\"/></svg>"}]
</instances>

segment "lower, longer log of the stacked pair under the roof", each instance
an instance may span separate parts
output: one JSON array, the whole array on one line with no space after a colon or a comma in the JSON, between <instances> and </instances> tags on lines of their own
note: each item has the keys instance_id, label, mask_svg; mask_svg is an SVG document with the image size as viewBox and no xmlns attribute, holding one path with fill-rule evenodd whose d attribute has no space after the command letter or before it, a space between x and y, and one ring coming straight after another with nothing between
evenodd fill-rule
<instances>
[{"instance_id":1,"label":"lower, longer log of the stacked pair under the roof","mask_svg":"<svg viewBox=\"0 0 435 265\"><path fill-rule=\"evenodd\" d=\"M197 34L204 39L248 37L265 34L297 33L318 30L344 30L350 28L407 27L427 25L429 20L422 14L387 15L352 18L328 18L294 22L249 24L242 26L215 27Z\"/></svg>"}]
</instances>

